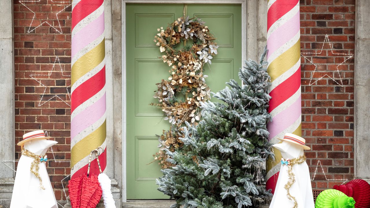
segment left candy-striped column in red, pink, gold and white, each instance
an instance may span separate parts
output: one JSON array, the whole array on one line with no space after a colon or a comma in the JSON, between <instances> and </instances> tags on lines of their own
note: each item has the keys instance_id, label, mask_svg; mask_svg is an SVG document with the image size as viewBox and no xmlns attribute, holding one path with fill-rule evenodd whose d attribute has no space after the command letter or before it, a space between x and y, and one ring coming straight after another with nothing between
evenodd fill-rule
<instances>
[{"instance_id":1,"label":"left candy-striped column in red, pink, gold and white","mask_svg":"<svg viewBox=\"0 0 370 208\"><path fill-rule=\"evenodd\" d=\"M87 173L88 155L106 148L104 0L73 0L71 178ZM102 171L106 152L99 156ZM99 174L91 161L90 174Z\"/></svg>"}]
</instances>

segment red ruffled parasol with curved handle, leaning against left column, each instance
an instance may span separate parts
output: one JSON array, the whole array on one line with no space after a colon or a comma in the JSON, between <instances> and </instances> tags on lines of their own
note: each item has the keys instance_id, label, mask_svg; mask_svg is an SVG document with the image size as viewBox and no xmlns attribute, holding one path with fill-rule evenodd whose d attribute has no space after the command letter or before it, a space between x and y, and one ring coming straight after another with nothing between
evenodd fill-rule
<instances>
[{"instance_id":1,"label":"red ruffled parasol with curved handle, leaning against left column","mask_svg":"<svg viewBox=\"0 0 370 208\"><path fill-rule=\"evenodd\" d=\"M102 190L97 175L92 174L89 177L93 151L90 153L87 175L81 175L68 181L68 192L72 208L95 208L101 199Z\"/></svg>"}]
</instances>

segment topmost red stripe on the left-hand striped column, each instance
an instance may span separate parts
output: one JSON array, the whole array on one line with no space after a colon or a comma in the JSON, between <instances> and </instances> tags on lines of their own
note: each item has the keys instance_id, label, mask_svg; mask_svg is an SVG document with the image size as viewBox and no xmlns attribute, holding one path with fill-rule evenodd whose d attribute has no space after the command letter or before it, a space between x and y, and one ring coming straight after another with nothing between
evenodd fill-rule
<instances>
[{"instance_id":1,"label":"topmost red stripe on the left-hand striped column","mask_svg":"<svg viewBox=\"0 0 370 208\"><path fill-rule=\"evenodd\" d=\"M85 17L97 10L104 0L81 0L73 7L72 12L72 30Z\"/></svg>"}]
</instances>

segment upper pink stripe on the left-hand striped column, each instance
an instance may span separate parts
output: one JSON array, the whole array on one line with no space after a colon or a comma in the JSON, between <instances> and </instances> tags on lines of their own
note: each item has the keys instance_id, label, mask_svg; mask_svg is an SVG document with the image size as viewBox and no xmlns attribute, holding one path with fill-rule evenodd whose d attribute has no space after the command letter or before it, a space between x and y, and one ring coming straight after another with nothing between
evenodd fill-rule
<instances>
[{"instance_id":1,"label":"upper pink stripe on the left-hand striped column","mask_svg":"<svg viewBox=\"0 0 370 208\"><path fill-rule=\"evenodd\" d=\"M72 37L71 57L104 33L104 12Z\"/></svg>"}]
</instances>

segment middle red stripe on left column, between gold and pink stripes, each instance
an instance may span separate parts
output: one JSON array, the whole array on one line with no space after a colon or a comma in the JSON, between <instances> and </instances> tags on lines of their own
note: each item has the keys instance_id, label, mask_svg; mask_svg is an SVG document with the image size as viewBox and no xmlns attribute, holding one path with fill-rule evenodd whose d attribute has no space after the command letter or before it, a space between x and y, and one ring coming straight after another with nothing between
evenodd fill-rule
<instances>
[{"instance_id":1,"label":"middle red stripe on left column, between gold and pink stripes","mask_svg":"<svg viewBox=\"0 0 370 208\"><path fill-rule=\"evenodd\" d=\"M92 96L97 94L105 85L105 65L96 73L90 77L80 86L75 88L72 93L73 99L71 100L71 113L85 101L90 99Z\"/></svg>"}]
</instances>

